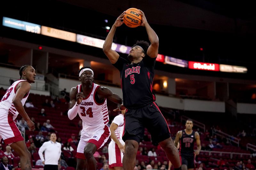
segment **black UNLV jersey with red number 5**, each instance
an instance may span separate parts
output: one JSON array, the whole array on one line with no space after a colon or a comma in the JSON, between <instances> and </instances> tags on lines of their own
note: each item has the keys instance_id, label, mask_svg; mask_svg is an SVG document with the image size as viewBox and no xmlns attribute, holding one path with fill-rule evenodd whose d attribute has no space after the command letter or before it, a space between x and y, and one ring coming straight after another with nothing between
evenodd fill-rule
<instances>
[{"instance_id":1,"label":"black UNLV jersey with red number 5","mask_svg":"<svg viewBox=\"0 0 256 170\"><path fill-rule=\"evenodd\" d=\"M146 55L140 63L131 64L119 56L117 62L113 64L120 71L126 108L141 107L156 100L152 87L155 63L156 58Z\"/></svg>"}]
</instances>

